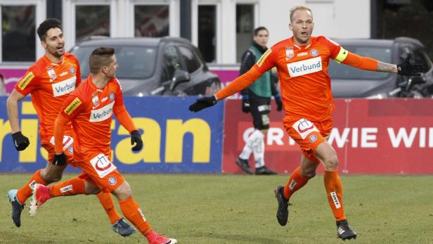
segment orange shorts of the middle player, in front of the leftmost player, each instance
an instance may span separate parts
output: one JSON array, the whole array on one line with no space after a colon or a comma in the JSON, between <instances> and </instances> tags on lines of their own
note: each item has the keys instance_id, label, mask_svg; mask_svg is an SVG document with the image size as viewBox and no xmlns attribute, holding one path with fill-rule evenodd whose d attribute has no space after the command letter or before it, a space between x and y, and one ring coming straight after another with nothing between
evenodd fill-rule
<instances>
[{"instance_id":1,"label":"orange shorts of the middle player, in front of the leftmost player","mask_svg":"<svg viewBox=\"0 0 433 244\"><path fill-rule=\"evenodd\" d=\"M84 161L76 162L76 165L84 172L79 177L95 184L103 192L115 191L124 182L122 174L117 171L109 155L103 153L86 155Z\"/></svg>"}]
</instances>

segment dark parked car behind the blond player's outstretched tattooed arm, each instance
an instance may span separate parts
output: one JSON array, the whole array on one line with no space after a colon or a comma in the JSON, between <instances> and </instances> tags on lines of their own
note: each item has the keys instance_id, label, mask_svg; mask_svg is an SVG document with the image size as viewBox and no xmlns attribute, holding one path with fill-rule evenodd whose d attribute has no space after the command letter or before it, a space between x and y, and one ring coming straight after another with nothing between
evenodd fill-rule
<instances>
[{"instance_id":1,"label":"dark parked car behind the blond player's outstretched tattooed arm","mask_svg":"<svg viewBox=\"0 0 433 244\"><path fill-rule=\"evenodd\" d=\"M420 77L359 70L330 62L332 94L335 98L432 97L432 60L420 41L408 37L384 39L335 39L351 52L384 63L401 63L410 54L411 62L425 66Z\"/></svg>"}]
</instances>

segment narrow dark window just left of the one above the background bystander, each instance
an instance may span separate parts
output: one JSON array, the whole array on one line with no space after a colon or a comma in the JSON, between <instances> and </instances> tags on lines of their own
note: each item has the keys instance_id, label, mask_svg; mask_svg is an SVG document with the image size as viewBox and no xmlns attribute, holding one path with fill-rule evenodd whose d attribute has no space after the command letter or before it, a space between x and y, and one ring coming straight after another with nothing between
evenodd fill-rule
<instances>
[{"instance_id":1,"label":"narrow dark window just left of the one above the background bystander","mask_svg":"<svg viewBox=\"0 0 433 244\"><path fill-rule=\"evenodd\" d=\"M216 62L216 5L198 6L198 49L207 63Z\"/></svg>"}]
</instances>

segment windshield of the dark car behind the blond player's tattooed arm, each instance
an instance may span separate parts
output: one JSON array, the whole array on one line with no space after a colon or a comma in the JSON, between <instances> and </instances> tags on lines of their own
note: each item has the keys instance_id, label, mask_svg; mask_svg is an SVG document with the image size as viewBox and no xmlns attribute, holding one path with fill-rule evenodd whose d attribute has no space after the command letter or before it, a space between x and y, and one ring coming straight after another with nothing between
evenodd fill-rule
<instances>
[{"instance_id":1,"label":"windshield of the dark car behind the blond player's tattooed arm","mask_svg":"<svg viewBox=\"0 0 433 244\"><path fill-rule=\"evenodd\" d=\"M386 47L344 46L344 49L360 56L375 58L384 63L391 63L392 51ZM336 63L333 60L329 62L328 72L331 79L386 79L390 75L384 72L353 68L349 65Z\"/></svg>"}]
</instances>

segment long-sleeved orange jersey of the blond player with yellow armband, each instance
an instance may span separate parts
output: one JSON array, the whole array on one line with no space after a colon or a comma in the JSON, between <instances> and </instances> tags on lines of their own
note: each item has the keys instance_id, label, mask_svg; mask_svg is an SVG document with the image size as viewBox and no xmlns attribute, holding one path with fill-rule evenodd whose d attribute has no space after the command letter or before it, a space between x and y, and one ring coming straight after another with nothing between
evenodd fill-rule
<instances>
[{"instance_id":1,"label":"long-sleeved orange jersey of the blond player with yellow armband","mask_svg":"<svg viewBox=\"0 0 433 244\"><path fill-rule=\"evenodd\" d=\"M335 108L328 76L330 58L366 70L377 67L377 60L349 53L326 37L311 37L306 46L297 46L291 37L273 45L250 71L235 79L233 85L229 84L216 96L225 98L254 82L258 75L276 67L287 120L330 120Z\"/></svg>"}]
</instances>

